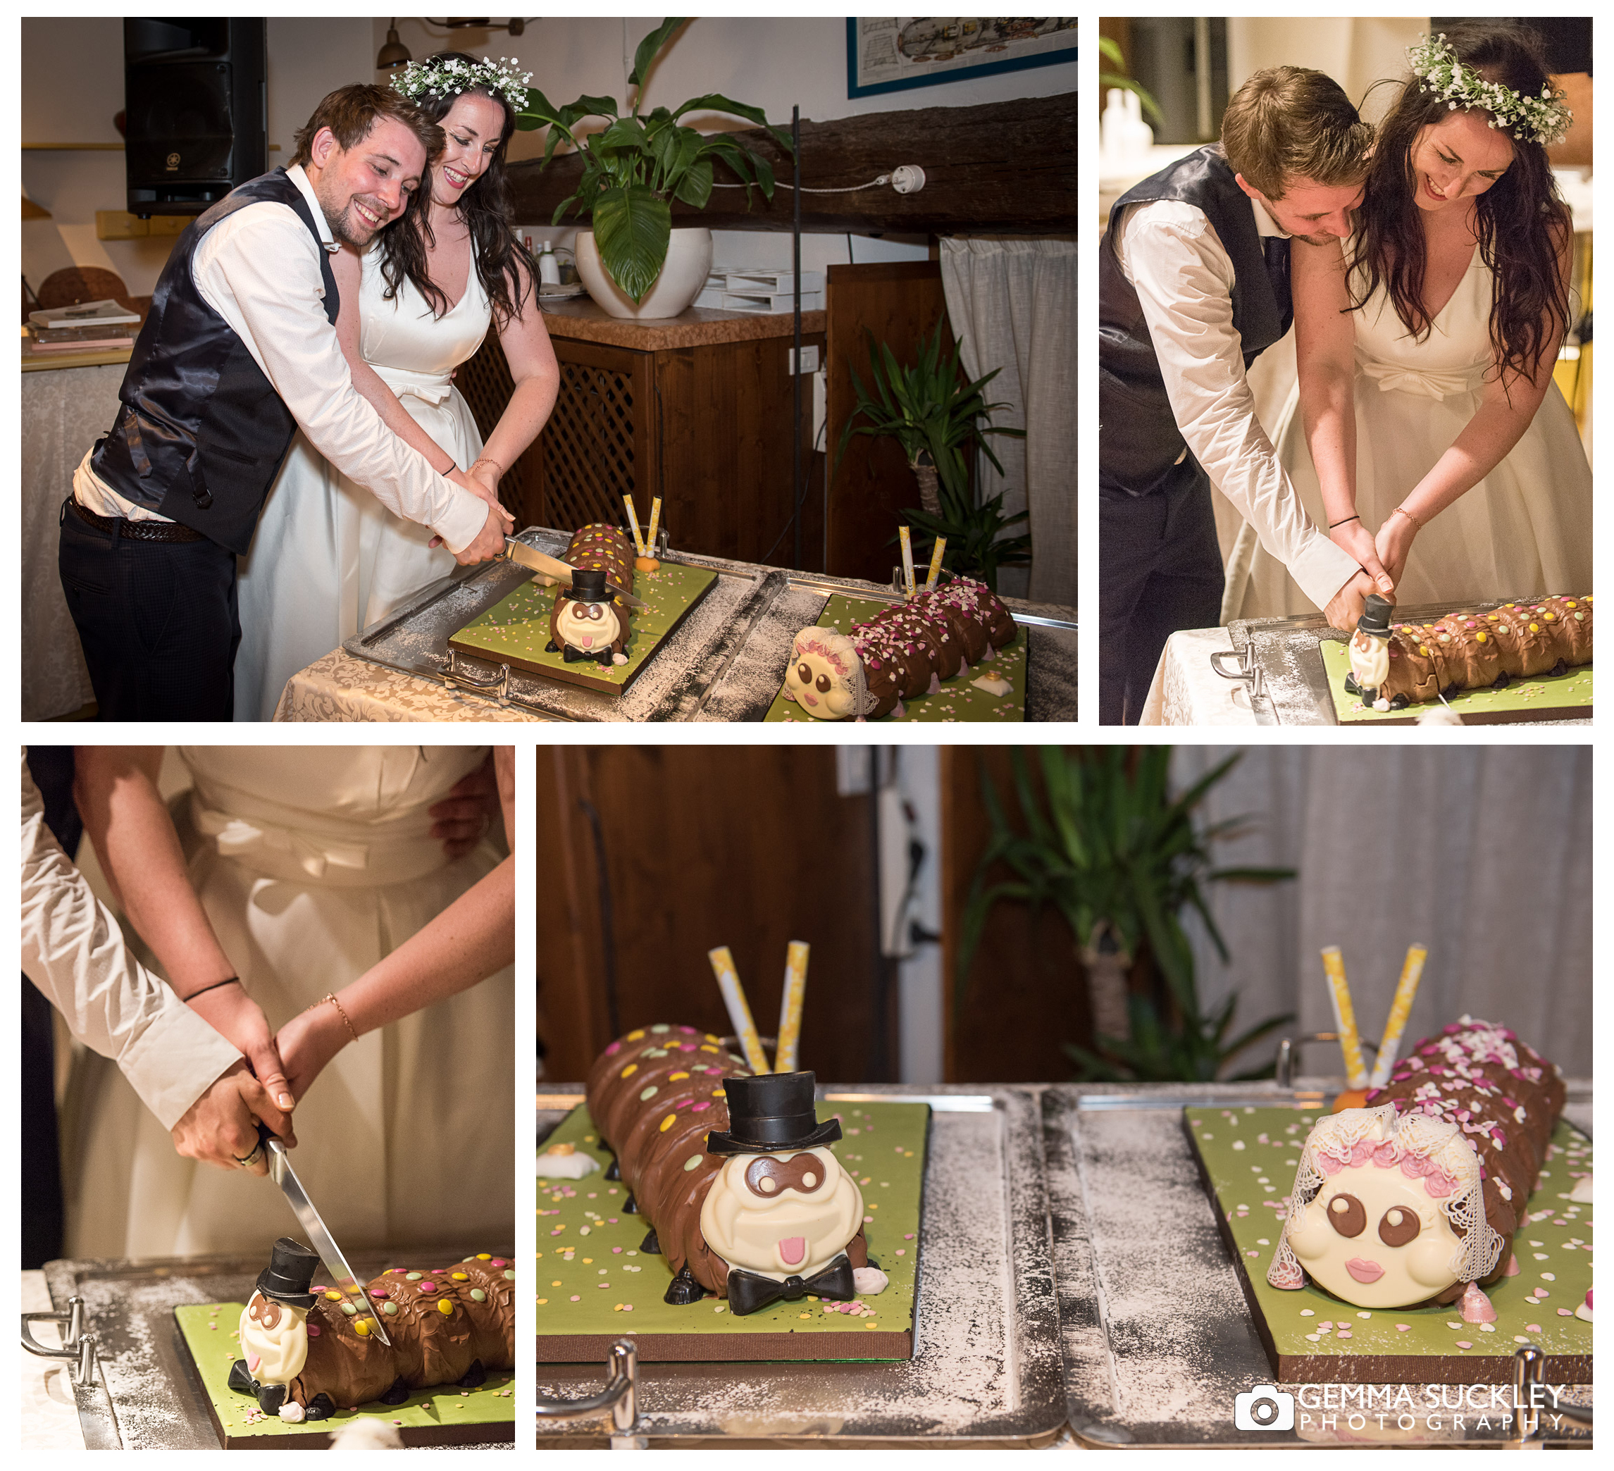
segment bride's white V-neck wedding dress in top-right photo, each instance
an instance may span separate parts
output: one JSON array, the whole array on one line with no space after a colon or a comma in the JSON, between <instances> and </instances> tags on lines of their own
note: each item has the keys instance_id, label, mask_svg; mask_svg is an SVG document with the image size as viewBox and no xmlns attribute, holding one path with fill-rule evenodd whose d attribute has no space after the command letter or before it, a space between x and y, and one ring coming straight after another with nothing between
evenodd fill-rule
<instances>
[{"instance_id":1,"label":"bride's white V-neck wedding dress in top-right photo","mask_svg":"<svg viewBox=\"0 0 1614 1471\"><path fill-rule=\"evenodd\" d=\"M1478 410L1491 363L1490 312L1491 271L1475 249L1424 341L1407 333L1383 286L1354 313L1356 509L1370 531L1378 531ZM1298 384L1272 438L1306 510L1325 526ZM1419 531L1396 601L1590 591L1591 467L1569 405L1549 384L1507 457ZM1228 559L1223 610L1244 618L1317 612L1283 564L1243 530Z\"/></svg>"}]
</instances>

